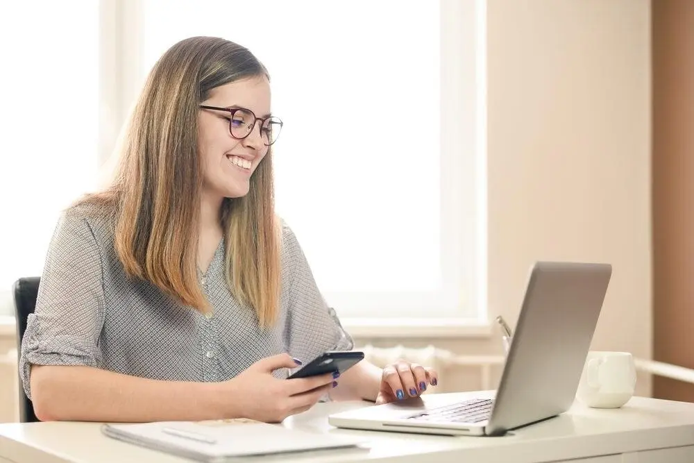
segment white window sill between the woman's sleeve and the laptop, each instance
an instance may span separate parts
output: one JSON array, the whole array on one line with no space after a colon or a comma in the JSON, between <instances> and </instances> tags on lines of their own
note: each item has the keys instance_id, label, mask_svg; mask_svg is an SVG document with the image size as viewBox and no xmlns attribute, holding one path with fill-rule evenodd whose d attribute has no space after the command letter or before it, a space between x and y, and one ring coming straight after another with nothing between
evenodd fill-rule
<instances>
[{"instance_id":1,"label":"white window sill between the woman's sleeve and the laptop","mask_svg":"<svg viewBox=\"0 0 694 463\"><path fill-rule=\"evenodd\" d=\"M491 337L488 321L462 318L399 318L371 317L341 319L343 328L357 338L485 338Z\"/></svg>"}]
</instances>

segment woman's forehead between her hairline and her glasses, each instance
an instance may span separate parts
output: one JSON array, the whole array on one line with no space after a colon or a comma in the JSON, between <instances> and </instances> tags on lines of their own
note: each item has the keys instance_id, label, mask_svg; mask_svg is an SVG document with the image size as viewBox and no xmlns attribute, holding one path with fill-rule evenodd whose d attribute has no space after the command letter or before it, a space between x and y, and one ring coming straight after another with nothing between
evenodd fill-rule
<instances>
[{"instance_id":1,"label":"woman's forehead between her hairline and her glasses","mask_svg":"<svg viewBox=\"0 0 694 463\"><path fill-rule=\"evenodd\" d=\"M265 115L270 112L270 83L264 76L244 78L212 89L208 101L215 106L242 106L257 116Z\"/></svg>"}]
</instances>

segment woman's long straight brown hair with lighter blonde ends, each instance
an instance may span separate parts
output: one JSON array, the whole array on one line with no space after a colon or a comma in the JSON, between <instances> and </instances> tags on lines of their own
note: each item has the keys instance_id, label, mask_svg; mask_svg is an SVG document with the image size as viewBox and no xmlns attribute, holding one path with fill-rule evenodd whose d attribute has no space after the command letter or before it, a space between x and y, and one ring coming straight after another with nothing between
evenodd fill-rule
<instances>
[{"instance_id":1,"label":"woman's long straight brown hair with lighter blonde ends","mask_svg":"<svg viewBox=\"0 0 694 463\"><path fill-rule=\"evenodd\" d=\"M119 150L112 183L80 203L114 214L115 249L129 276L149 280L201 312L210 310L197 278L202 165L198 106L215 87L269 75L248 51L217 37L191 37L162 55L146 80ZM280 231L270 151L242 198L224 199L226 278L239 302L271 326L280 298Z\"/></svg>"}]
</instances>

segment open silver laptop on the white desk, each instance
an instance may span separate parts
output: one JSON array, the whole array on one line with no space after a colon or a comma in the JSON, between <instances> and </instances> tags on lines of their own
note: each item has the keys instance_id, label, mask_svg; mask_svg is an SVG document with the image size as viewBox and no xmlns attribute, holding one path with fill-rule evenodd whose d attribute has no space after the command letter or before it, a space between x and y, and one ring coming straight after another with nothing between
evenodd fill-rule
<instances>
[{"instance_id":1,"label":"open silver laptop on the white desk","mask_svg":"<svg viewBox=\"0 0 694 463\"><path fill-rule=\"evenodd\" d=\"M534 264L496 392L425 394L332 414L329 423L338 428L494 436L566 412L611 274L609 264Z\"/></svg>"}]
</instances>

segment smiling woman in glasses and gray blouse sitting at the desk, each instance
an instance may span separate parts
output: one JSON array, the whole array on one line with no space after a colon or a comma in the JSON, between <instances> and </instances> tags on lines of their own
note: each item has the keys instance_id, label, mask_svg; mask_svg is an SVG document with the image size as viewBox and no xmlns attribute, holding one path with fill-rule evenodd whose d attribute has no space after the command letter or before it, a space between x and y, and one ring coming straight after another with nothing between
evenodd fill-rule
<instances>
[{"instance_id":1,"label":"smiling woman in glasses and gray blouse sitting at the desk","mask_svg":"<svg viewBox=\"0 0 694 463\"><path fill-rule=\"evenodd\" d=\"M436 384L407 362L286 379L353 342L273 210L270 108L232 42L192 37L153 67L112 184L62 214L46 256L20 361L40 419L281 421Z\"/></svg>"}]
</instances>

